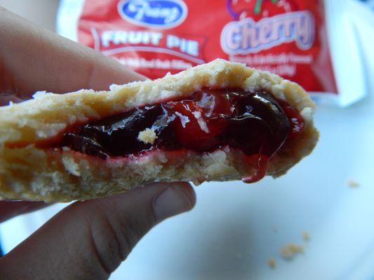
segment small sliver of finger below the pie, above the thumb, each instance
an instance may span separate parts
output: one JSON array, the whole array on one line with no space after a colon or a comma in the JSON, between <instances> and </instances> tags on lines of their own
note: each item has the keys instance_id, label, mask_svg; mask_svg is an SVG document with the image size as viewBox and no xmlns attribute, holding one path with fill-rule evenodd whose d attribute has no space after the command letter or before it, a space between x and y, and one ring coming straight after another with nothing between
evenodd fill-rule
<instances>
[{"instance_id":1,"label":"small sliver of finger below the pie, above the thumb","mask_svg":"<svg viewBox=\"0 0 374 280\"><path fill-rule=\"evenodd\" d=\"M46 202L8 202L0 201L0 223L15 216L26 214L32 211L47 207L51 203Z\"/></svg>"}]
</instances>

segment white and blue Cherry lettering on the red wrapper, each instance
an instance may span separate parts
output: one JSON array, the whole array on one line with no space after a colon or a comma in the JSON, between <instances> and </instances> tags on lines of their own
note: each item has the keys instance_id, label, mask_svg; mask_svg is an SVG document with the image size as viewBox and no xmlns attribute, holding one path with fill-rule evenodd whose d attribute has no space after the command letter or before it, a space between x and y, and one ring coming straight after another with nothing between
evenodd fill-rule
<instances>
[{"instance_id":1,"label":"white and blue Cherry lettering on the red wrapper","mask_svg":"<svg viewBox=\"0 0 374 280\"><path fill-rule=\"evenodd\" d=\"M252 18L229 22L221 32L221 46L228 55L246 55L295 41L307 50L314 41L314 17L307 11L275 15L255 22Z\"/></svg>"}]
</instances>

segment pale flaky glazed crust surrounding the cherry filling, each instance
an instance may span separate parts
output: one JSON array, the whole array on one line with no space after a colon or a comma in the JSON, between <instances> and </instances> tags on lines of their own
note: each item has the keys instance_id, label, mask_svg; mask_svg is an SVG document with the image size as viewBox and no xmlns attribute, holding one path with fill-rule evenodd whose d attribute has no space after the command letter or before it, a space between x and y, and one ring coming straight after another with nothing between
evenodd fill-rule
<instances>
[{"instance_id":1,"label":"pale flaky glazed crust surrounding the cherry filling","mask_svg":"<svg viewBox=\"0 0 374 280\"><path fill-rule=\"evenodd\" d=\"M302 87L267 71L216 59L158 80L112 85L109 91L39 93L27 102L0 107L0 196L67 202L119 193L154 181L201 183L241 179L244 172L250 175L243 169L243 153L229 147L203 154L152 151L140 157L102 160L69 148L35 146L58 137L69 125L188 97L203 87L267 90L300 111L305 129L297 141L290 141L274 155L268 175L286 173L311 153L318 141L312 119L315 105Z\"/></svg>"}]
</instances>

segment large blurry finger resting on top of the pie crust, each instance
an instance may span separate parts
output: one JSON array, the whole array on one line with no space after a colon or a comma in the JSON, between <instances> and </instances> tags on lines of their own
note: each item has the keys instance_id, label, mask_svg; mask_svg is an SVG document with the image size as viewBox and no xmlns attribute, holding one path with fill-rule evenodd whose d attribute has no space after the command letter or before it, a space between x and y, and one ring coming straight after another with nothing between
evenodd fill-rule
<instances>
[{"instance_id":1,"label":"large blurry finger resting on top of the pie crust","mask_svg":"<svg viewBox=\"0 0 374 280\"><path fill-rule=\"evenodd\" d=\"M63 93L107 90L145 77L79 43L41 29L0 7L0 92L30 97L37 90Z\"/></svg>"}]
</instances>

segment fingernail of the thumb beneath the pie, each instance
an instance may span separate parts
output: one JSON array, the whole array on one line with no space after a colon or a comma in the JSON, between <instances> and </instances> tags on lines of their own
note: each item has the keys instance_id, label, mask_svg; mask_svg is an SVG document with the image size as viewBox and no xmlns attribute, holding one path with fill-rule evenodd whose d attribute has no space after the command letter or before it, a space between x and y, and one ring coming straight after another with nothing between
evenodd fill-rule
<instances>
[{"instance_id":1,"label":"fingernail of the thumb beneath the pie","mask_svg":"<svg viewBox=\"0 0 374 280\"><path fill-rule=\"evenodd\" d=\"M171 186L156 197L153 202L157 221L192 209L193 202L182 190L182 186Z\"/></svg>"}]
</instances>

